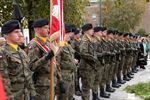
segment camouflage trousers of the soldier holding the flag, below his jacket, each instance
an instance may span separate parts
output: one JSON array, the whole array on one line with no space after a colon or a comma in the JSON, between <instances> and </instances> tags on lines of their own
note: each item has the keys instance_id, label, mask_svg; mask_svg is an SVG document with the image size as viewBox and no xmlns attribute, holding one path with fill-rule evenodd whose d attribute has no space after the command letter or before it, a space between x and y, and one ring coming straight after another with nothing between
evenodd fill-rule
<instances>
[{"instance_id":1,"label":"camouflage trousers of the soldier holding the flag, below his jacket","mask_svg":"<svg viewBox=\"0 0 150 100\"><path fill-rule=\"evenodd\" d=\"M49 86L36 86L36 99L35 100L49 100L50 87Z\"/></svg>"}]
</instances>

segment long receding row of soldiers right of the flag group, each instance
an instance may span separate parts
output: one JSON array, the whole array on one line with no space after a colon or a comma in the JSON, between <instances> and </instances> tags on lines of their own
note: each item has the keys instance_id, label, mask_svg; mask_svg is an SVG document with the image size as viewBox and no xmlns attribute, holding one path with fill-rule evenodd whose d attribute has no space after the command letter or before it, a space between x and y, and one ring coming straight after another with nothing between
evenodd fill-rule
<instances>
[{"instance_id":1,"label":"long receding row of soldiers right of the flag group","mask_svg":"<svg viewBox=\"0 0 150 100\"><path fill-rule=\"evenodd\" d=\"M82 27L82 33L81 41L75 39L71 43L75 58L80 61L76 90L79 91L77 80L81 77L82 100L89 100L90 89L93 100L100 100L98 89L101 97L109 98L107 92L114 92L114 88L133 78L139 53L138 36L106 27L93 28L90 23Z\"/></svg>"}]
</instances>

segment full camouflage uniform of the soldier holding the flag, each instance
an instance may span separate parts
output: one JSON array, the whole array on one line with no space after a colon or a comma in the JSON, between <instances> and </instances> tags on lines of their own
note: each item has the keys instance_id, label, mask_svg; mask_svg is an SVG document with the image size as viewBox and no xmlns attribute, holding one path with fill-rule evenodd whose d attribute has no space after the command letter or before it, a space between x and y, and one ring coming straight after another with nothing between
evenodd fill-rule
<instances>
[{"instance_id":1,"label":"full camouflage uniform of the soldier holding the flag","mask_svg":"<svg viewBox=\"0 0 150 100\"><path fill-rule=\"evenodd\" d=\"M36 37L42 45L50 48L49 42L42 42ZM31 41L28 48L29 67L34 72L33 80L37 92L36 100L50 99L50 60L45 59L44 52L41 47L34 41Z\"/></svg>"}]
</instances>

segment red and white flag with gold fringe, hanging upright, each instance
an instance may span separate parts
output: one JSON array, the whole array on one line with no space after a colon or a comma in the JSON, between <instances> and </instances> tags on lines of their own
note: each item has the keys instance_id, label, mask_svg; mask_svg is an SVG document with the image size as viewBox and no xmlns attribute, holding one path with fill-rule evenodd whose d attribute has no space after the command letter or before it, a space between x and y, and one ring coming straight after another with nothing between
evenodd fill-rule
<instances>
[{"instance_id":1,"label":"red and white flag with gold fringe, hanging upright","mask_svg":"<svg viewBox=\"0 0 150 100\"><path fill-rule=\"evenodd\" d=\"M63 0L51 0L50 39L62 42L64 40Z\"/></svg>"}]
</instances>

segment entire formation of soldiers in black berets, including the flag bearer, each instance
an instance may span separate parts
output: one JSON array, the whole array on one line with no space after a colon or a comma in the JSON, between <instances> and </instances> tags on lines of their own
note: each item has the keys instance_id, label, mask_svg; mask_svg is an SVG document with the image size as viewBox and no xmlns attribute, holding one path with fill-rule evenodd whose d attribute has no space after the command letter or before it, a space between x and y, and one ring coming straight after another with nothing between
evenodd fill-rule
<instances>
[{"instance_id":1,"label":"entire formation of soldiers in black berets, including the flag bearer","mask_svg":"<svg viewBox=\"0 0 150 100\"><path fill-rule=\"evenodd\" d=\"M53 57L57 61L58 100L74 100L74 94L89 100L90 89L93 100L100 100L99 90L101 97L109 98L107 92L114 92L114 88L133 77L139 52L138 36L105 27L93 28L90 23L82 26L81 35L73 25L66 25L64 45L55 55L50 48L48 24L46 19L33 23L35 38L28 44L26 53L19 47L20 23L11 20L3 24L1 35L6 44L0 47L0 74L8 100L49 100Z\"/></svg>"}]
</instances>

